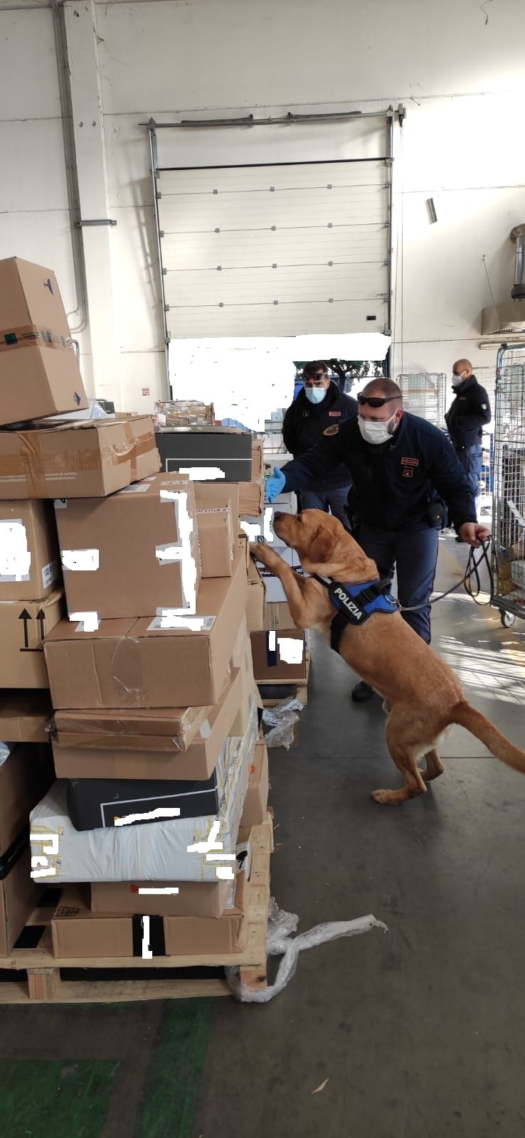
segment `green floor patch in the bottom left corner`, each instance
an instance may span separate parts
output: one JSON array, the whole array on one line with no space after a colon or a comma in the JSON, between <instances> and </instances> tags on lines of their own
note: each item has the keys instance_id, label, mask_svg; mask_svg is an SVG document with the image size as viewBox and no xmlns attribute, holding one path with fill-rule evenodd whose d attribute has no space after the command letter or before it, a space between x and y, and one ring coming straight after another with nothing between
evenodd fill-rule
<instances>
[{"instance_id":1,"label":"green floor patch in the bottom left corner","mask_svg":"<svg viewBox=\"0 0 525 1138\"><path fill-rule=\"evenodd\" d=\"M99 1138L118 1063L2 1059L0 1135Z\"/></svg>"}]
</instances>

